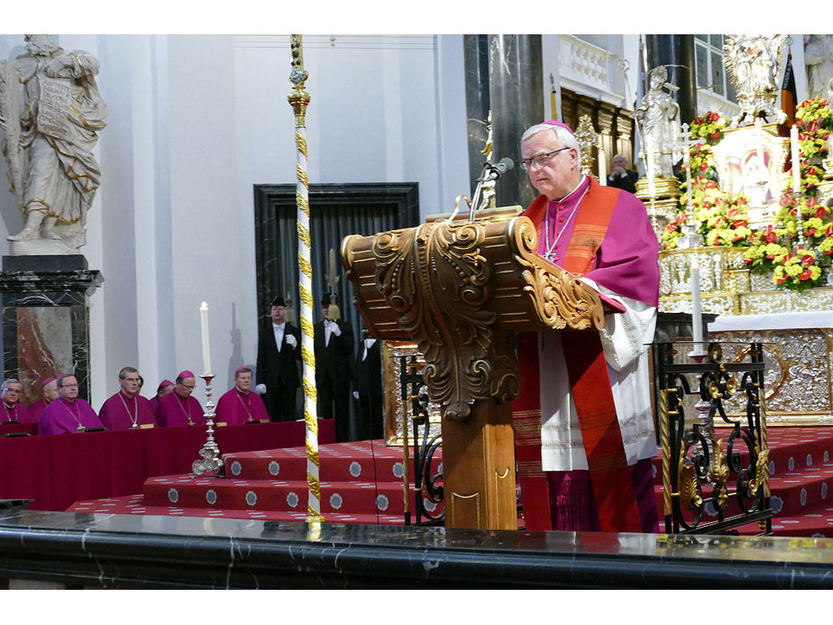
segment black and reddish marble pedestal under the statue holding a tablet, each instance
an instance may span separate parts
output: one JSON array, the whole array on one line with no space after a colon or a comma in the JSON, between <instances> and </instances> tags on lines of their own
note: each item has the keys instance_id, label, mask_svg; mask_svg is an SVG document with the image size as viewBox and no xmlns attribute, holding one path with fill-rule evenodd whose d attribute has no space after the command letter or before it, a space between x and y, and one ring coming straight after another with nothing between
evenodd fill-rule
<instances>
[{"instance_id":1,"label":"black and reddish marble pedestal under the statue holding a tablet","mask_svg":"<svg viewBox=\"0 0 833 625\"><path fill-rule=\"evenodd\" d=\"M40 399L41 381L78 378L89 400L88 298L104 281L83 256L4 256L0 271L5 378L23 384L23 402Z\"/></svg>"}]
</instances>

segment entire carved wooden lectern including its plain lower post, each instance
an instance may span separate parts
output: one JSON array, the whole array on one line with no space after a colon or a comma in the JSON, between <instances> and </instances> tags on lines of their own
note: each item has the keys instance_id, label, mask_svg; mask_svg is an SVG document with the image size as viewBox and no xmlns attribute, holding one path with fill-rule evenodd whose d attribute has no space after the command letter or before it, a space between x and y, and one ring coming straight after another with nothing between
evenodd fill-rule
<instances>
[{"instance_id":1,"label":"entire carved wooden lectern including its plain lower post","mask_svg":"<svg viewBox=\"0 0 833 625\"><path fill-rule=\"evenodd\" d=\"M599 295L545 261L524 216L436 221L342 242L371 335L416 342L443 413L445 525L517 529L517 333L599 328Z\"/></svg>"}]
</instances>

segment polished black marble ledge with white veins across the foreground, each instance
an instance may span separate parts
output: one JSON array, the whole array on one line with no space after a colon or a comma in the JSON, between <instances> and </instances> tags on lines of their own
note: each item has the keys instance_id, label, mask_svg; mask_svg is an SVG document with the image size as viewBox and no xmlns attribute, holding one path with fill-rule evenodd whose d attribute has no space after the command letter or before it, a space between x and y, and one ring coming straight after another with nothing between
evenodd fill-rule
<instances>
[{"instance_id":1,"label":"polished black marble ledge with white veins across the foreground","mask_svg":"<svg viewBox=\"0 0 833 625\"><path fill-rule=\"evenodd\" d=\"M828 588L833 540L0 513L0 577L108 588Z\"/></svg>"}]
</instances>

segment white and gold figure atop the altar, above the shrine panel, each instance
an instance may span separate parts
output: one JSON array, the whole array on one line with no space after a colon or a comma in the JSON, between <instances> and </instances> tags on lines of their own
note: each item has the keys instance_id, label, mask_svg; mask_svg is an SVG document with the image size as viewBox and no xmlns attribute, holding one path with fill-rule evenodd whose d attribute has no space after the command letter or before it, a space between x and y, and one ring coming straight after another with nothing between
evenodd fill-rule
<instances>
[{"instance_id":1,"label":"white and gold figure atop the altar, above the shrine panel","mask_svg":"<svg viewBox=\"0 0 833 625\"><path fill-rule=\"evenodd\" d=\"M727 35L723 51L726 67L737 92L740 114L732 120L737 127L746 120L754 124L755 117L769 123L783 124L786 114L775 106L779 88L778 57L786 35Z\"/></svg>"}]
</instances>

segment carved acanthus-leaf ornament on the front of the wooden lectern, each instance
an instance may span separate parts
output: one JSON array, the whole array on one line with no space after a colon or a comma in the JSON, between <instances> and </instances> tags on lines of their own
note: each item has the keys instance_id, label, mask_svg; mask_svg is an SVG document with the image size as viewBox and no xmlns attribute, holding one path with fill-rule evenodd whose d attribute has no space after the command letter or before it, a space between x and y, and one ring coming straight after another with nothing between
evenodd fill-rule
<instances>
[{"instance_id":1,"label":"carved acanthus-leaf ornament on the front of the wooden lectern","mask_svg":"<svg viewBox=\"0 0 833 625\"><path fill-rule=\"evenodd\" d=\"M376 282L425 356L429 393L446 418L468 417L473 401L490 397L495 374L497 315L485 308L491 273L484 237L476 222L435 222L378 234L372 245Z\"/></svg>"}]
</instances>

